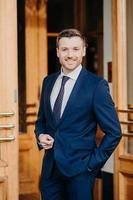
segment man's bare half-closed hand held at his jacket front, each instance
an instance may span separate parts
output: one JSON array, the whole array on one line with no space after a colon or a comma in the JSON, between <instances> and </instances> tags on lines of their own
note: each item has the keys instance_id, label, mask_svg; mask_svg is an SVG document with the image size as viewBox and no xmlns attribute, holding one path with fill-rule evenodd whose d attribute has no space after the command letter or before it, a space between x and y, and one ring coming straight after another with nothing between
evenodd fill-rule
<instances>
[{"instance_id":1,"label":"man's bare half-closed hand held at his jacket front","mask_svg":"<svg viewBox=\"0 0 133 200\"><path fill-rule=\"evenodd\" d=\"M53 147L54 139L49 134L40 134L39 141L44 149L51 149Z\"/></svg>"}]
</instances>

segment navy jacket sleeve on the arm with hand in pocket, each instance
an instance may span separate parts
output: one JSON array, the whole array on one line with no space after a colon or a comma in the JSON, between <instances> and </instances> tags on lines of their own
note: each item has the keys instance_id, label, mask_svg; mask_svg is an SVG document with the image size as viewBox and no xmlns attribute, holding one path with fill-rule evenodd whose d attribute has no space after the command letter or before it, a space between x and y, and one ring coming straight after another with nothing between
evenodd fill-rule
<instances>
[{"instance_id":1,"label":"navy jacket sleeve on the arm with hand in pocket","mask_svg":"<svg viewBox=\"0 0 133 200\"><path fill-rule=\"evenodd\" d=\"M101 80L98 84L93 103L96 121L105 135L90 157L88 168L92 170L105 164L121 139L120 123L107 81Z\"/></svg>"}]
</instances>

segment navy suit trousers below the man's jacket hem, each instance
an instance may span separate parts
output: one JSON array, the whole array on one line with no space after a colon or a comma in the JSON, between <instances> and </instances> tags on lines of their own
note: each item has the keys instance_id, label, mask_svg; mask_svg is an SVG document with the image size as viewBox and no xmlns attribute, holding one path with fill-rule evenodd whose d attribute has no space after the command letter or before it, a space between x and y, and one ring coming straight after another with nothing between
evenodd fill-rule
<instances>
[{"instance_id":1,"label":"navy suit trousers below the man's jacket hem","mask_svg":"<svg viewBox=\"0 0 133 200\"><path fill-rule=\"evenodd\" d=\"M50 178L41 178L42 200L92 200L95 174L84 171L73 177L65 177L57 166Z\"/></svg>"}]
</instances>

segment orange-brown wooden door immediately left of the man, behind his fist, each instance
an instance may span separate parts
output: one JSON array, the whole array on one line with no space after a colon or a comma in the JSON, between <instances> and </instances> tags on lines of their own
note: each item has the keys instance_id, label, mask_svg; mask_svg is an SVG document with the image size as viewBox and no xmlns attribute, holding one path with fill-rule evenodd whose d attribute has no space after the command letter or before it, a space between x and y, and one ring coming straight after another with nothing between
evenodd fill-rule
<instances>
[{"instance_id":1,"label":"orange-brown wooden door immediately left of the man, behind his fist","mask_svg":"<svg viewBox=\"0 0 133 200\"><path fill-rule=\"evenodd\" d=\"M25 2L25 71L26 127L19 135L19 193L39 193L39 178L43 151L36 145L34 125L39 106L40 90L47 75L46 2ZM34 156L33 156L34 155Z\"/></svg>"}]
</instances>

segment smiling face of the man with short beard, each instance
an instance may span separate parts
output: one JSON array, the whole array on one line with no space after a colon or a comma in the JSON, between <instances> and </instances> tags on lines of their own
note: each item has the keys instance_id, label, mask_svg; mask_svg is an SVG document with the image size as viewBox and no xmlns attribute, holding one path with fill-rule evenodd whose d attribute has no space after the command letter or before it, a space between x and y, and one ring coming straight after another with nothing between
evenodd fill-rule
<instances>
[{"instance_id":1,"label":"smiling face of the man with short beard","mask_svg":"<svg viewBox=\"0 0 133 200\"><path fill-rule=\"evenodd\" d=\"M57 57L64 73L68 74L76 69L85 56L86 48L80 37L63 37L59 40Z\"/></svg>"}]
</instances>

